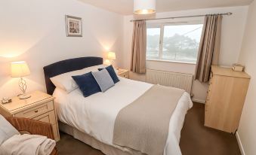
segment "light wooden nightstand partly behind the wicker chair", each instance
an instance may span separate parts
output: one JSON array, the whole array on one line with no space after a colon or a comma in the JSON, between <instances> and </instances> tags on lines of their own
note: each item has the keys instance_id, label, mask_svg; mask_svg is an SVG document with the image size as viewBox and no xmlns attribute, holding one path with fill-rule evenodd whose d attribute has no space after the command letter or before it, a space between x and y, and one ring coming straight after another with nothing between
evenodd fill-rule
<instances>
[{"instance_id":1,"label":"light wooden nightstand partly behind the wicker chair","mask_svg":"<svg viewBox=\"0 0 256 155\"><path fill-rule=\"evenodd\" d=\"M51 123L55 141L60 140L54 97L35 91L29 99L12 98L12 102L0 103L0 114L4 117L23 117Z\"/></svg>"}]
</instances>

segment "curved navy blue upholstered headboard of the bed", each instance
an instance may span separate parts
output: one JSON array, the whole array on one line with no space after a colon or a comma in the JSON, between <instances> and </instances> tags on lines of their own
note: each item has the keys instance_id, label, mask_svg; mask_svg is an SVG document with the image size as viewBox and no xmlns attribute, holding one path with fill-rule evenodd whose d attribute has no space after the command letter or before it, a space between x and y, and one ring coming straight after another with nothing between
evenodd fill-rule
<instances>
[{"instance_id":1,"label":"curved navy blue upholstered headboard of the bed","mask_svg":"<svg viewBox=\"0 0 256 155\"><path fill-rule=\"evenodd\" d=\"M45 73L45 84L47 93L52 95L55 90L54 84L51 82L50 78L63 74L69 71L76 71L82 68L91 67L93 65L103 64L103 59L100 57L81 57L75 59L66 59L60 62L55 62L51 65L44 67Z\"/></svg>"}]
</instances>

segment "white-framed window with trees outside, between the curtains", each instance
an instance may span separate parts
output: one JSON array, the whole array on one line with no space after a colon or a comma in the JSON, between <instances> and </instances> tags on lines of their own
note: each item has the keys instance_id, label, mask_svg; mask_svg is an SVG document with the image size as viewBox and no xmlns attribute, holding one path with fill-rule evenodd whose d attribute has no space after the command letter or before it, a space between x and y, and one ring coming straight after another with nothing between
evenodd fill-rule
<instances>
[{"instance_id":1,"label":"white-framed window with trees outside, between the curtains","mask_svg":"<svg viewBox=\"0 0 256 155\"><path fill-rule=\"evenodd\" d=\"M196 63L202 24L147 28L147 59Z\"/></svg>"}]
</instances>

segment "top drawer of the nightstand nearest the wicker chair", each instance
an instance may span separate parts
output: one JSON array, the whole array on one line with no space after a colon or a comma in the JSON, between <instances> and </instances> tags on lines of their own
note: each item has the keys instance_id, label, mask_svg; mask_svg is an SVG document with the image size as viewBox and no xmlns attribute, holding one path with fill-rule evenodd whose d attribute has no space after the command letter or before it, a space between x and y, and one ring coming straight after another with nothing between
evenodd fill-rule
<instances>
[{"instance_id":1,"label":"top drawer of the nightstand nearest the wicker chair","mask_svg":"<svg viewBox=\"0 0 256 155\"><path fill-rule=\"evenodd\" d=\"M48 111L54 110L54 102L46 102L42 105L35 106L33 108L29 108L25 111L21 111L17 114L14 114L15 117L25 117L25 118L33 118L37 117L41 114L45 114Z\"/></svg>"}]
</instances>

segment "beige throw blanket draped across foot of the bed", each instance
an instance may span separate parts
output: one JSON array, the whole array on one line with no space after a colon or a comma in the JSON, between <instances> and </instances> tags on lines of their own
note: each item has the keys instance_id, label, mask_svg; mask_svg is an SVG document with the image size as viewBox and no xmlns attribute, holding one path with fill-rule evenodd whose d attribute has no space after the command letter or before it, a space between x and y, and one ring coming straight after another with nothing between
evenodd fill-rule
<instances>
[{"instance_id":1,"label":"beige throw blanket draped across foot of the bed","mask_svg":"<svg viewBox=\"0 0 256 155\"><path fill-rule=\"evenodd\" d=\"M116 117L113 144L162 155L171 115L184 90L155 85L122 108Z\"/></svg>"}]
</instances>

